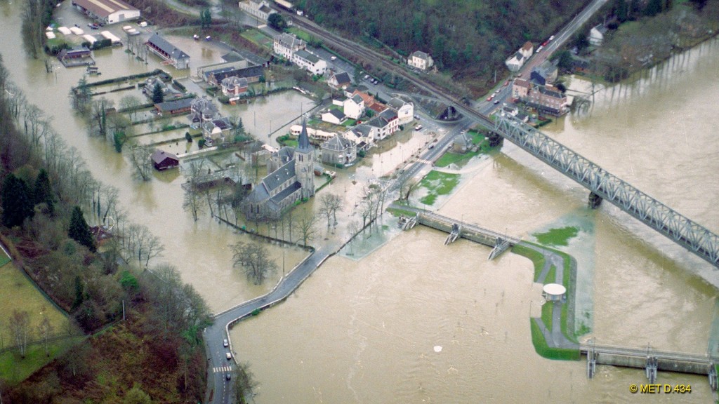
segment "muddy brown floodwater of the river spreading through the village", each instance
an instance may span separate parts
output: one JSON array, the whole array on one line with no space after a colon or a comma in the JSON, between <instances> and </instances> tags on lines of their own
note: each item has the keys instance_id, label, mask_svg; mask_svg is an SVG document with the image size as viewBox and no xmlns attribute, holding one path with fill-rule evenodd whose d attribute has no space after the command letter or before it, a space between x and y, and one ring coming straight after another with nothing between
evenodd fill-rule
<instances>
[{"instance_id":1,"label":"muddy brown floodwater of the river spreading through the village","mask_svg":"<svg viewBox=\"0 0 719 404\"><path fill-rule=\"evenodd\" d=\"M45 73L42 62L27 58L19 45L18 1L0 1L0 16L0 52L12 80L53 116L55 129L81 151L96 178L121 190L130 219L160 237L163 260L178 266L213 311L276 283L277 277L262 287L248 285L232 270L229 244L242 236L207 215L193 221L183 211L182 175L161 173L139 183L111 145L88 138L67 98L83 69ZM86 26L68 1L58 17L65 25ZM180 42L193 58L193 69L219 61L223 53L204 42ZM146 65L122 49L99 52L97 60L103 79L159 67L157 60ZM719 44L707 42L641 80L600 91L591 114L567 116L545 132L719 231L717 72ZM590 88L579 79L571 86ZM250 132L265 136L312 105L296 93L283 93L235 112ZM387 172L426 139L399 142L406 148L372 157L372 173ZM363 167L357 175L368 172ZM345 201L357 203L362 183L333 186L336 193L344 190ZM577 257L577 318L591 330L582 339L706 352L719 285L707 263L613 206L587 210L586 190L511 144L490 159L470 163L460 186L439 206L442 214L525 239L563 226L580 230L561 248ZM251 364L260 381L256 402L656 401L628 392L630 384L645 382L641 370L600 366L597 377L587 380L584 362L539 357L529 317L541 310L541 285L532 283L531 262L513 254L487 262L487 247L465 241L447 247L444 237L419 226L362 260L332 257L287 302L236 326L238 358ZM304 255L299 249L283 254L273 248L288 268ZM665 399L711 400L705 377L660 372L659 382L692 385L691 394Z\"/></svg>"}]
</instances>

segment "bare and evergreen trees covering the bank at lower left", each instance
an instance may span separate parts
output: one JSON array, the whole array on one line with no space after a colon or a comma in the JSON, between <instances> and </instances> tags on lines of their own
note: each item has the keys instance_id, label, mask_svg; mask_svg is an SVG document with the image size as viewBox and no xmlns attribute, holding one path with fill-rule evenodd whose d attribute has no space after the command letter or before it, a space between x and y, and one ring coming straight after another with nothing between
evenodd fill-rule
<instances>
[{"instance_id":1,"label":"bare and evergreen trees covering the bank at lower left","mask_svg":"<svg viewBox=\"0 0 719 404\"><path fill-rule=\"evenodd\" d=\"M206 304L173 267L150 267L162 253L159 239L127 219L118 206L118 190L93 178L78 151L65 144L50 119L28 104L8 78L0 63L1 230L20 240L13 249L19 253L14 253L16 262L83 329L96 330L122 318L123 301L129 320L52 362L42 376L15 387L9 392L10 402L49 402L52 396L74 395L76 390L88 391L88 397L98 395L93 400L101 402L110 393L93 390L97 372L123 372L125 367L134 373L122 377L130 380L129 385L111 387L114 398L139 397L144 391L171 401L202 400L206 361L201 329L210 321ZM106 121L102 125L111 121L102 114L108 105L94 106L96 116ZM105 224L111 231L102 253L93 253L95 239L88 233L88 222ZM152 270L137 272L138 267ZM14 344L23 353L33 340L47 344L52 335L52 325L29 324L22 311L12 314L11 324ZM95 350L105 338L116 340ZM93 368L113 349L132 352L129 362ZM122 352L111 354L117 355L113 360L122 357ZM142 388L133 387L132 380ZM6 398L5 393L0 396Z\"/></svg>"}]
</instances>

